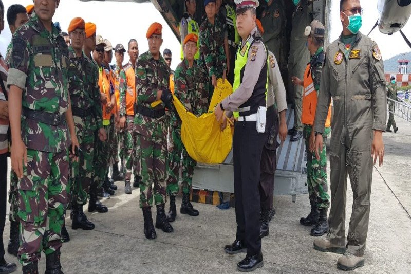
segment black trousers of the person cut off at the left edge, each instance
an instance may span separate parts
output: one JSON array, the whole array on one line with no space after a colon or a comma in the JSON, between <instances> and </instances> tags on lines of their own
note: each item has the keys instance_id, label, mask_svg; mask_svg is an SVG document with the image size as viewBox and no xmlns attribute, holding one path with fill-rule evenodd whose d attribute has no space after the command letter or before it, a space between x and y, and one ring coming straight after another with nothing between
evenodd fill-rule
<instances>
[{"instance_id":1,"label":"black trousers of the person cut off at the left edge","mask_svg":"<svg viewBox=\"0 0 411 274\"><path fill-rule=\"evenodd\" d=\"M0 155L0 260L4 257L3 232L6 224L7 156Z\"/></svg>"}]
</instances>

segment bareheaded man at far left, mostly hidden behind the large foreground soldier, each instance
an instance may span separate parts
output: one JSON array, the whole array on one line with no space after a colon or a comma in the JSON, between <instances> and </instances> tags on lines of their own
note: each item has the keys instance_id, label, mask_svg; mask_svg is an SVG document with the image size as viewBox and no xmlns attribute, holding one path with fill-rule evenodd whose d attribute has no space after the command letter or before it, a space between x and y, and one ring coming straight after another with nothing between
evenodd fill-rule
<instances>
[{"instance_id":1,"label":"bareheaded man at far left, mostly hidden behind the large foreground soldier","mask_svg":"<svg viewBox=\"0 0 411 274\"><path fill-rule=\"evenodd\" d=\"M29 20L26 8L19 4L14 4L7 10L7 23L9 24L10 32L14 32ZM11 43L7 48L6 62L9 59L9 50ZM7 246L7 252L17 256L18 252L18 188L17 176L14 171L10 173L10 188L9 188L9 221L10 221L10 239Z\"/></svg>"}]
</instances>

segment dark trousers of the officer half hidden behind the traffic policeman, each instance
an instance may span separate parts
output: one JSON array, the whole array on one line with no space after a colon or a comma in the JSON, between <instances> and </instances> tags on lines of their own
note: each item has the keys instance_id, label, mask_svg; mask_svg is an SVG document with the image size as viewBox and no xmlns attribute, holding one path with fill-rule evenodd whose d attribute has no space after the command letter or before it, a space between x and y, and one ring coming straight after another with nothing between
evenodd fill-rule
<instances>
[{"instance_id":1,"label":"dark trousers of the officer half hidden behind the traffic policeman","mask_svg":"<svg viewBox=\"0 0 411 274\"><path fill-rule=\"evenodd\" d=\"M274 107L267 109L267 128L274 129L275 139L272 145L264 144L263 153L261 154L258 190L260 193L261 209L271 210L273 208L274 173L277 169L277 148L279 146L277 142L278 117Z\"/></svg>"}]
</instances>

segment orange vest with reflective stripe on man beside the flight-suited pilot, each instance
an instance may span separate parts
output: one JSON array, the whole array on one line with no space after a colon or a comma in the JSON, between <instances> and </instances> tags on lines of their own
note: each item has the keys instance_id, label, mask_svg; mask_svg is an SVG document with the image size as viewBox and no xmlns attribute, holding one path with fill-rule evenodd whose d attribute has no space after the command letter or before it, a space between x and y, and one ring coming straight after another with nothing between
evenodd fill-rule
<instances>
[{"instance_id":1,"label":"orange vest with reflective stripe on man beside the flight-suited pilot","mask_svg":"<svg viewBox=\"0 0 411 274\"><path fill-rule=\"evenodd\" d=\"M314 87L314 81L311 76L311 64L307 65L304 72L304 90L303 90L303 112L301 122L312 125L315 119L315 110L317 108L317 92ZM325 121L325 127L331 126L331 106L328 108L328 115Z\"/></svg>"}]
</instances>

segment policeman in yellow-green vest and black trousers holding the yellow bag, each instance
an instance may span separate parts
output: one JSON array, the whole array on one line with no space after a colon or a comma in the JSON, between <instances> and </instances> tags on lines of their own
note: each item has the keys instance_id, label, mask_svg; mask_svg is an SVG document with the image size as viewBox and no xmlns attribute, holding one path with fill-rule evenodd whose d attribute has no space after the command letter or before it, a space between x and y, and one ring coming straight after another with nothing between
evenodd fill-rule
<instances>
[{"instance_id":1,"label":"policeman in yellow-green vest and black trousers holding the yellow bag","mask_svg":"<svg viewBox=\"0 0 411 274\"><path fill-rule=\"evenodd\" d=\"M215 108L218 121L237 118L234 130L234 194L236 239L225 246L229 254L247 252L237 264L240 271L263 266L260 228L260 160L266 130L267 48L256 27L258 0L236 0L237 30L242 38L235 60L233 94ZM226 111L226 115L224 115Z\"/></svg>"}]
</instances>

